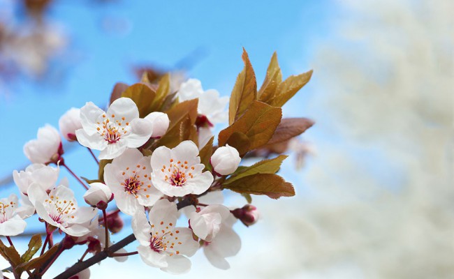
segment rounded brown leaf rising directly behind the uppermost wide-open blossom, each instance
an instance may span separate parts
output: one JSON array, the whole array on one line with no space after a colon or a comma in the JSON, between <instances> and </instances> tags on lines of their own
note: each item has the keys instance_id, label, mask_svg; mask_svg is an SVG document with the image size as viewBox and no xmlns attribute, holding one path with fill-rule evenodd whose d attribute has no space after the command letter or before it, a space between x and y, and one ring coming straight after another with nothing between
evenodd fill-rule
<instances>
[{"instance_id":1,"label":"rounded brown leaf rising directly behind the uppermost wide-open blossom","mask_svg":"<svg viewBox=\"0 0 454 279\"><path fill-rule=\"evenodd\" d=\"M142 83L133 84L122 93L122 97L131 98L136 103L140 118L152 112L149 108L155 96L156 93L147 84Z\"/></svg>"}]
</instances>

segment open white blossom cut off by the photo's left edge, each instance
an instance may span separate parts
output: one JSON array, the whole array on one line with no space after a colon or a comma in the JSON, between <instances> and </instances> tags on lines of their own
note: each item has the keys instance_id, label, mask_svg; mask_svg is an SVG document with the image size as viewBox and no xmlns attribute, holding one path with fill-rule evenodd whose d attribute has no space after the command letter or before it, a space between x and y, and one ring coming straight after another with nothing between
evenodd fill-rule
<instances>
[{"instance_id":1,"label":"open white blossom cut off by the photo's left edge","mask_svg":"<svg viewBox=\"0 0 454 279\"><path fill-rule=\"evenodd\" d=\"M17 213L17 207L17 196L14 194L0 199L0 235L15 236L24 232L27 223Z\"/></svg>"}]
</instances>

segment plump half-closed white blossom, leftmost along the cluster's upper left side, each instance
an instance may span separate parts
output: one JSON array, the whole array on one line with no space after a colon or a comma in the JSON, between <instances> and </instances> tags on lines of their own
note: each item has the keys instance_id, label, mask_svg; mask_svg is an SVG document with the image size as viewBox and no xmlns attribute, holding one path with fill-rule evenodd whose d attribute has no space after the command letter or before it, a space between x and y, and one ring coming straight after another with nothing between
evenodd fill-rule
<instances>
[{"instance_id":1,"label":"plump half-closed white blossom, leftmost along the cluster's upper left side","mask_svg":"<svg viewBox=\"0 0 454 279\"><path fill-rule=\"evenodd\" d=\"M38 129L36 140L24 144L24 154L31 163L57 163L62 153L61 137L49 124Z\"/></svg>"}]
</instances>

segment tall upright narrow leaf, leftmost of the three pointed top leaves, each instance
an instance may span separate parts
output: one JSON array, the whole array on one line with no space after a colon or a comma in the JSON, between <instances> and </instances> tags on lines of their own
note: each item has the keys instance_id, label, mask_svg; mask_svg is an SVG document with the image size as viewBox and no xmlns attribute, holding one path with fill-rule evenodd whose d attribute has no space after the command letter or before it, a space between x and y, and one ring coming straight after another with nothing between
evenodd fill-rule
<instances>
[{"instance_id":1,"label":"tall upright narrow leaf, leftmost of the three pointed top leaves","mask_svg":"<svg viewBox=\"0 0 454 279\"><path fill-rule=\"evenodd\" d=\"M235 86L233 86L232 94L230 95L228 106L228 123L230 125L244 114L247 107L256 100L257 96L256 74L244 48L242 59L244 61L244 68L238 75Z\"/></svg>"}]
</instances>

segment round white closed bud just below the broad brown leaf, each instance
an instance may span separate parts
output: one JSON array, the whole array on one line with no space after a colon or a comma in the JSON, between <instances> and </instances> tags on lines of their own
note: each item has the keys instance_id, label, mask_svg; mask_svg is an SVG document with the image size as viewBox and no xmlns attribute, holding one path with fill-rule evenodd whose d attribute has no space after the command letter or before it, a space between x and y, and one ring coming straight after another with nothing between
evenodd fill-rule
<instances>
[{"instance_id":1,"label":"round white closed bud just below the broad brown leaf","mask_svg":"<svg viewBox=\"0 0 454 279\"><path fill-rule=\"evenodd\" d=\"M235 147L221 146L214 151L211 157L211 165L213 166L214 172L220 175L233 174L240 165L240 153Z\"/></svg>"}]
</instances>

